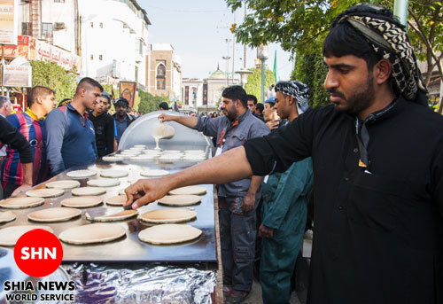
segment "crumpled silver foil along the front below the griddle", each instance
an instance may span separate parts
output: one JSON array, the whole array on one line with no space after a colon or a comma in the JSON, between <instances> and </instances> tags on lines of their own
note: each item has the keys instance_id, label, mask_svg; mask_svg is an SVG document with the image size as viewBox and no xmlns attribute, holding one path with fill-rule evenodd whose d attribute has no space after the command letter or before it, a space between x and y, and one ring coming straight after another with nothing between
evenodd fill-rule
<instances>
[{"instance_id":1,"label":"crumpled silver foil along the front below the griddle","mask_svg":"<svg viewBox=\"0 0 443 304\"><path fill-rule=\"evenodd\" d=\"M212 303L216 272L170 265L74 263L75 303Z\"/></svg>"}]
</instances>

